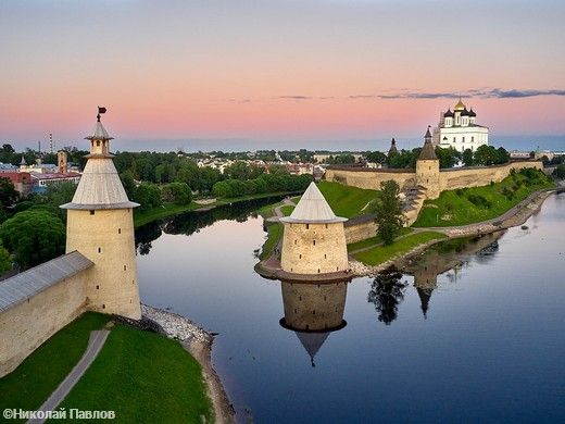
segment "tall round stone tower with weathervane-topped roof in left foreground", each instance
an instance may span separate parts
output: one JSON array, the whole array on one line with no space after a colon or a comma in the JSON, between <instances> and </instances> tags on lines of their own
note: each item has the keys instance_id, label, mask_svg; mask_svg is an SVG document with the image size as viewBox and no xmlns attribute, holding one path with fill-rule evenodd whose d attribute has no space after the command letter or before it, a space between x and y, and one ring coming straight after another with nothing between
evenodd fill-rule
<instances>
[{"instance_id":1,"label":"tall round stone tower with weathervane-topped roof in left foreground","mask_svg":"<svg viewBox=\"0 0 565 424\"><path fill-rule=\"evenodd\" d=\"M102 110L105 111L105 110ZM87 309L139 320L139 287L134 242L134 208L110 154L110 137L100 114L90 154L67 210L66 252L78 250L95 266L87 276Z\"/></svg>"}]
</instances>

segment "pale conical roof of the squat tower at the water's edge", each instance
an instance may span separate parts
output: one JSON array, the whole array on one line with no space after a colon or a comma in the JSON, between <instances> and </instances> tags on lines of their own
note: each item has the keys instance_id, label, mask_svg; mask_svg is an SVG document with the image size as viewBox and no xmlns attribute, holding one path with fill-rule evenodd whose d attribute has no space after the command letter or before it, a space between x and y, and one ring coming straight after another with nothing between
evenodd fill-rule
<instances>
[{"instance_id":1,"label":"pale conical roof of the squat tower at the water's edge","mask_svg":"<svg viewBox=\"0 0 565 424\"><path fill-rule=\"evenodd\" d=\"M348 220L336 216L324 195L314 183L311 183L290 216L281 217L280 221L286 223L329 224Z\"/></svg>"}]
</instances>

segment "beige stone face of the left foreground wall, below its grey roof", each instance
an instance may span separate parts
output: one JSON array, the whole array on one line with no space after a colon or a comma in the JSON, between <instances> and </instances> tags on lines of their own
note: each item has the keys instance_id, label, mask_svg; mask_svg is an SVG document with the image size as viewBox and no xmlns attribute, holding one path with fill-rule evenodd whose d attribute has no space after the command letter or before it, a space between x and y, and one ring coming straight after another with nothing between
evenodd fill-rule
<instances>
[{"instance_id":1,"label":"beige stone face of the left foreground wall, below its grey roof","mask_svg":"<svg viewBox=\"0 0 565 424\"><path fill-rule=\"evenodd\" d=\"M89 273L81 271L0 313L0 377L85 312Z\"/></svg>"}]
</instances>

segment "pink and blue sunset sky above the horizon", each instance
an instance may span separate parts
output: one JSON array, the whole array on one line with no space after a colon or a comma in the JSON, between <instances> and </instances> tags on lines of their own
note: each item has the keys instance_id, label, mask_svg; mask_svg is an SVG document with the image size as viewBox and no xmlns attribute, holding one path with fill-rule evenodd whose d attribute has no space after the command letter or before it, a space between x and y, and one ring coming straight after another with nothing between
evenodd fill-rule
<instances>
[{"instance_id":1,"label":"pink and blue sunset sky above the horizon","mask_svg":"<svg viewBox=\"0 0 565 424\"><path fill-rule=\"evenodd\" d=\"M131 149L417 139L459 95L492 139L561 136L564 25L562 0L2 0L0 142L76 145L98 104Z\"/></svg>"}]
</instances>

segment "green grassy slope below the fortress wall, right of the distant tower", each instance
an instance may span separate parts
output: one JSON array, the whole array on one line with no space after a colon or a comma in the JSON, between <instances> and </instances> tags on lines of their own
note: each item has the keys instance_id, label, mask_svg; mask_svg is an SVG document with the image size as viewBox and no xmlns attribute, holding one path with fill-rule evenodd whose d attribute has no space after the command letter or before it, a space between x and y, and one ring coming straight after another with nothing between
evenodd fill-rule
<instances>
[{"instance_id":1,"label":"green grassy slope below the fortress wall, right of the distant tower","mask_svg":"<svg viewBox=\"0 0 565 424\"><path fill-rule=\"evenodd\" d=\"M414 227L456 226L492 220L527 198L533 191L554 187L541 172L527 178L520 173L501 183L442 191L438 199L426 200Z\"/></svg>"}]
</instances>

